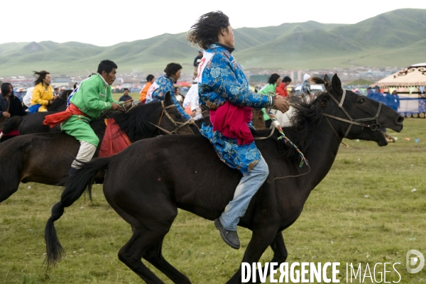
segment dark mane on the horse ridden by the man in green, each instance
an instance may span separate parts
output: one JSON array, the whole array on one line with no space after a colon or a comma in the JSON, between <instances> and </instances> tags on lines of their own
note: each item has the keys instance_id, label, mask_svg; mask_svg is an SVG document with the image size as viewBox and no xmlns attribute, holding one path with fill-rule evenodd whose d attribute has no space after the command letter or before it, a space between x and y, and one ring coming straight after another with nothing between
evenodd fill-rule
<instances>
[{"instance_id":1,"label":"dark mane on the horse ridden by the man in green","mask_svg":"<svg viewBox=\"0 0 426 284\"><path fill-rule=\"evenodd\" d=\"M149 123L158 118L161 110L161 102L151 102L149 104L138 104L127 113L119 113L113 116L116 124L124 131L131 141L144 138L152 138L158 135L155 126ZM154 124L157 124L155 121Z\"/></svg>"}]
</instances>

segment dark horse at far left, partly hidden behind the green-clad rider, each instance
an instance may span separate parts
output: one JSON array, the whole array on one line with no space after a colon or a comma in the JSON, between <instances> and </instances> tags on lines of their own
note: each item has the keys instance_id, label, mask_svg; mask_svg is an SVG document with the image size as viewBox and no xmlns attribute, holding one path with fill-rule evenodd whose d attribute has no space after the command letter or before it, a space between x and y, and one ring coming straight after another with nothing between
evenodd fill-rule
<instances>
[{"instance_id":1,"label":"dark horse at far left, partly hidden behind the green-clad rider","mask_svg":"<svg viewBox=\"0 0 426 284\"><path fill-rule=\"evenodd\" d=\"M4 133L9 133L13 130L18 130L19 135L33 134L33 133L48 133L59 132L60 126L50 128L44 125L43 121L45 116L55 114L58 111L65 111L67 109L67 99L72 90L66 89L60 93L50 106L48 111L35 112L26 116L13 116L6 121L3 127Z\"/></svg>"}]
</instances>

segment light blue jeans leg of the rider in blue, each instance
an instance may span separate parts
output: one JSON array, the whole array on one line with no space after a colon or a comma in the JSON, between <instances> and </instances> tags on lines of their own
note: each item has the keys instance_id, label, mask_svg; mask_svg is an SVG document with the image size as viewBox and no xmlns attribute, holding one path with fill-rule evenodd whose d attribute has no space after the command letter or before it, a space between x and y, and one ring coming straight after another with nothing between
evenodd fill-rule
<instances>
[{"instance_id":1,"label":"light blue jeans leg of the rider in blue","mask_svg":"<svg viewBox=\"0 0 426 284\"><path fill-rule=\"evenodd\" d=\"M239 219L246 213L253 195L268 178L269 169L265 159L261 160L251 169L248 175L241 178L234 192L234 199L226 205L224 212L219 217L222 226L228 231L236 231Z\"/></svg>"}]
</instances>

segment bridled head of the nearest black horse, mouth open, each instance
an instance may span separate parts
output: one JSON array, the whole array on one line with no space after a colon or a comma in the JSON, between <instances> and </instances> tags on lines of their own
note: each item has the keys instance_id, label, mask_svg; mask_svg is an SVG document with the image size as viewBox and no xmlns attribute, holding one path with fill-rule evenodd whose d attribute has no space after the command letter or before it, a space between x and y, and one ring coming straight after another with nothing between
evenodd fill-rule
<instances>
[{"instance_id":1,"label":"bridled head of the nearest black horse, mouth open","mask_svg":"<svg viewBox=\"0 0 426 284\"><path fill-rule=\"evenodd\" d=\"M400 132L403 129L403 116L386 105L342 89L342 82L337 74L324 80L313 77L312 82L324 84L331 99L327 99L324 107L324 116L330 125L334 121L335 131L339 137L376 141L378 146L386 146L388 142L395 142L395 138L384 133L382 128ZM334 102L333 102L334 101Z\"/></svg>"}]
</instances>

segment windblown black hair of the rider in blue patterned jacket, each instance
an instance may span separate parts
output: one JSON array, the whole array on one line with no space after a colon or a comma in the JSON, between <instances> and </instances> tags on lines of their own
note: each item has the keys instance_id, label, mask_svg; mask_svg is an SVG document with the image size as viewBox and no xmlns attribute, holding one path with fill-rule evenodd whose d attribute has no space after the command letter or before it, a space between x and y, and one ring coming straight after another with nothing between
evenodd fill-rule
<instances>
[{"instance_id":1,"label":"windblown black hair of the rider in blue patterned jacket","mask_svg":"<svg viewBox=\"0 0 426 284\"><path fill-rule=\"evenodd\" d=\"M222 28L226 28L227 31L228 26L229 17L222 11L204 13L188 31L187 40L199 45L200 48L208 49L209 45L219 40L217 33Z\"/></svg>"}]
</instances>

